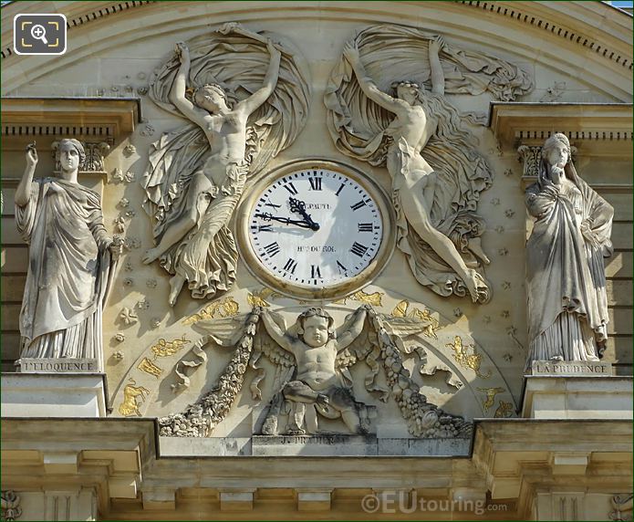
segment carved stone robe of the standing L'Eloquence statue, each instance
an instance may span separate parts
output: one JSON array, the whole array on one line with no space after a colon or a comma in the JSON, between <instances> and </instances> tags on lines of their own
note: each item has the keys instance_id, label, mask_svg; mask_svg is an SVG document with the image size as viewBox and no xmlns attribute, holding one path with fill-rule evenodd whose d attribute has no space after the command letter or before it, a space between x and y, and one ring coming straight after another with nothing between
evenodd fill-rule
<instances>
[{"instance_id":1,"label":"carved stone robe of the standing L'Eloquence statue","mask_svg":"<svg viewBox=\"0 0 634 522\"><path fill-rule=\"evenodd\" d=\"M31 185L16 205L29 245L20 312L24 358L89 358L103 368L101 317L115 263L99 194L57 178Z\"/></svg>"}]
</instances>

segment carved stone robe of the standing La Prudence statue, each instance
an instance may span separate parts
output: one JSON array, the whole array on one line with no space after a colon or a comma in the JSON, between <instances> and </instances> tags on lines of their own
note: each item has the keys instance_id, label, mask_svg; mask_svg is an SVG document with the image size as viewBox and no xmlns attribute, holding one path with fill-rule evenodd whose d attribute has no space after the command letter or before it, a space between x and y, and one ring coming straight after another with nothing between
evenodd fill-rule
<instances>
[{"instance_id":1,"label":"carved stone robe of the standing La Prudence statue","mask_svg":"<svg viewBox=\"0 0 634 522\"><path fill-rule=\"evenodd\" d=\"M608 298L604 257L612 253L614 209L565 168L566 191L539 177L526 189L526 207L536 218L526 243L528 340L532 360L597 360L607 339ZM581 232L587 222L591 239Z\"/></svg>"}]
</instances>

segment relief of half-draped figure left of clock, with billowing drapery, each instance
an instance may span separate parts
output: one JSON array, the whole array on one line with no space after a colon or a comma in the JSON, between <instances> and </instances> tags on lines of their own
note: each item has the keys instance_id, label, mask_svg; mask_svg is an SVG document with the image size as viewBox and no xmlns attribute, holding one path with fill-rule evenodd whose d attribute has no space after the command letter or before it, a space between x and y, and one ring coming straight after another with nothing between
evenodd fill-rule
<instances>
[{"instance_id":1,"label":"relief of half-draped figure left of clock, with billowing drapery","mask_svg":"<svg viewBox=\"0 0 634 522\"><path fill-rule=\"evenodd\" d=\"M192 125L152 145L143 176L146 210L173 306L187 282L213 298L235 279L237 249L227 227L248 177L295 140L309 94L301 57L236 24L178 43L151 81L150 97ZM283 79L280 79L284 76Z\"/></svg>"}]
</instances>

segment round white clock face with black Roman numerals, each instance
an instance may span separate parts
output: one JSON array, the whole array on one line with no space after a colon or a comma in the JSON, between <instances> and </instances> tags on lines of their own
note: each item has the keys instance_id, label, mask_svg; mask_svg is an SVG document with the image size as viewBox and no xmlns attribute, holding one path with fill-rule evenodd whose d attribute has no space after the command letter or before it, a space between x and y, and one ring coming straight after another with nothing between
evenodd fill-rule
<instances>
[{"instance_id":1,"label":"round white clock face with black Roman numerals","mask_svg":"<svg viewBox=\"0 0 634 522\"><path fill-rule=\"evenodd\" d=\"M380 199L343 169L293 169L255 191L245 215L251 253L269 279L341 286L375 264L385 235Z\"/></svg>"}]
</instances>

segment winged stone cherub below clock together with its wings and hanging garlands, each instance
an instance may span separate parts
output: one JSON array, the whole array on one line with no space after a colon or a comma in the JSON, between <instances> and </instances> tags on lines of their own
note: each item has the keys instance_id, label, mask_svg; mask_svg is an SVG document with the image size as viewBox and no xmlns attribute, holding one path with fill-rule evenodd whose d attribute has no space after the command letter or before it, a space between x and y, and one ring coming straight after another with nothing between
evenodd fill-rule
<instances>
[{"instance_id":1,"label":"winged stone cherub below clock together with its wings and hanging garlands","mask_svg":"<svg viewBox=\"0 0 634 522\"><path fill-rule=\"evenodd\" d=\"M473 424L427 401L403 365L402 339L420 334L426 327L418 318L393 318L364 305L349 314L335 329L333 318L322 308L309 308L287 327L284 318L267 308L254 307L250 314L232 318L203 319L195 329L207 335L199 339L176 367L180 383L189 386L187 371L200 367L207 356L205 346L226 347L234 355L212 391L181 413L159 419L161 435L210 436L229 414L251 371L254 400L262 398L258 387L265 379L264 356L275 366L273 397L265 413L263 434L276 434L278 417L288 414L286 434L324 433L318 418L341 418L346 432L368 433L376 406L356 399L349 369L358 362L369 367L366 391L379 400L393 399L414 437L468 438ZM401 348L403 347L403 348ZM194 360L192 360L192 357ZM377 382L379 371L386 386ZM290 406L284 409L284 406Z\"/></svg>"}]
</instances>

